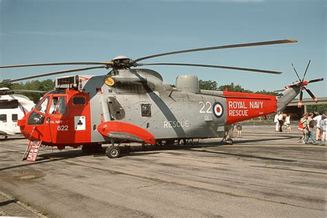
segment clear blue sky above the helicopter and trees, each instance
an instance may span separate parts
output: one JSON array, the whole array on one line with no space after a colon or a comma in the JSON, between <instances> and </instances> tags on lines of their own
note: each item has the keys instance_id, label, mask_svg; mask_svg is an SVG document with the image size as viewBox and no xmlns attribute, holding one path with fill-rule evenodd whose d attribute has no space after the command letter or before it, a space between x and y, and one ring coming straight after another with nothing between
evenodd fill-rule
<instances>
[{"instance_id":1,"label":"clear blue sky above the helicopter and trees","mask_svg":"<svg viewBox=\"0 0 327 218\"><path fill-rule=\"evenodd\" d=\"M174 54L143 61L281 71L282 75L268 75L147 66L170 84L178 75L197 75L217 81L218 86L233 82L253 91L279 90L297 80L291 63L303 77L311 60L306 79L327 80L326 9L324 0L0 0L0 65L110 61L117 55L137 59L175 50L297 39L297 43ZM3 69L0 80L78 67ZM90 70L78 75L107 72ZM326 81L309 84L308 88L317 97L327 96Z\"/></svg>"}]
</instances>

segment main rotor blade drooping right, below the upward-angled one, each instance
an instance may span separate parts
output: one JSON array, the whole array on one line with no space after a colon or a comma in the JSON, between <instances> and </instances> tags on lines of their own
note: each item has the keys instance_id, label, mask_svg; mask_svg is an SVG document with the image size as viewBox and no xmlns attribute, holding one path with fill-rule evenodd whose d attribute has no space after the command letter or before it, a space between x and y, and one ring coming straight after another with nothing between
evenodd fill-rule
<instances>
[{"instance_id":1,"label":"main rotor blade drooping right, below the upward-angled one","mask_svg":"<svg viewBox=\"0 0 327 218\"><path fill-rule=\"evenodd\" d=\"M206 65L206 64L193 64L193 63L138 63L137 66L148 66L148 65L170 65L170 66L192 66L192 67L204 67L204 68L223 68L230 70L245 70L251 72L264 72L271 73L275 75L280 75L282 72L279 71L271 71L271 70L259 70L252 68L235 68L230 66L217 66L217 65Z\"/></svg>"}]
</instances>

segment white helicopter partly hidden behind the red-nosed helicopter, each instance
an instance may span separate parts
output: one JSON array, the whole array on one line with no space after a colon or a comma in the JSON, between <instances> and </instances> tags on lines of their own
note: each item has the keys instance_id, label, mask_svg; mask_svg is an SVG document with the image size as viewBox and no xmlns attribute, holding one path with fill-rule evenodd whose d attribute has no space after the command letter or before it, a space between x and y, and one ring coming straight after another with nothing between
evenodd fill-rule
<instances>
[{"instance_id":1,"label":"white helicopter partly hidden behind the red-nosed helicopter","mask_svg":"<svg viewBox=\"0 0 327 218\"><path fill-rule=\"evenodd\" d=\"M21 134L17 120L21 119L35 106L35 103L24 95L14 93L39 92L35 90L10 90L0 88L0 136L5 139L9 135Z\"/></svg>"}]
</instances>

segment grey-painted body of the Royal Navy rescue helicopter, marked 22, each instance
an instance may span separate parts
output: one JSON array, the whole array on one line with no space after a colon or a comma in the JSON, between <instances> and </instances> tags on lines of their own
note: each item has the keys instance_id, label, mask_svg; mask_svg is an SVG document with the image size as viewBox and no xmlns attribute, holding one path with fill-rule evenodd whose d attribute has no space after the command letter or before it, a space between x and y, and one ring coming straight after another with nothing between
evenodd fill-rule
<instances>
[{"instance_id":1,"label":"grey-painted body of the Royal Navy rescue helicopter, marked 22","mask_svg":"<svg viewBox=\"0 0 327 218\"><path fill-rule=\"evenodd\" d=\"M113 86L104 83L108 77L115 80ZM177 88L172 88L153 70L112 70L108 75L79 76L78 89L90 95L92 143L110 141L96 128L103 121L132 123L156 140L226 135L227 112L217 116L212 108L216 102L227 108L226 97L223 92L199 90L192 75L177 77ZM283 106L295 96L283 99Z\"/></svg>"}]
</instances>

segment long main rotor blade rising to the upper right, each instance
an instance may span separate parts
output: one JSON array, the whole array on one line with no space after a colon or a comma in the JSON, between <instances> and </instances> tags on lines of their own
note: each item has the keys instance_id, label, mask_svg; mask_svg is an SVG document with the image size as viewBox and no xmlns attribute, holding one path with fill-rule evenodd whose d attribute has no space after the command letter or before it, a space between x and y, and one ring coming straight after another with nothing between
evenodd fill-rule
<instances>
[{"instance_id":1,"label":"long main rotor blade rising to the upper right","mask_svg":"<svg viewBox=\"0 0 327 218\"><path fill-rule=\"evenodd\" d=\"M283 39L283 40L277 40L277 41L261 41L261 42L235 44L235 45L228 45L228 46L194 48L194 49L188 49L188 50L178 50L175 52L165 52L165 53L161 53L161 54L153 54L150 56L141 57L139 59L136 59L134 62L143 61L145 59L161 57L161 56L170 55L170 54L181 54L181 53L187 53L187 52L199 52L199 51L204 51L204 50L216 50L216 49L223 49L223 48L239 48L239 47L249 47L249 46L264 46L264 45L281 44L281 43L295 43L295 42L297 42L296 39Z\"/></svg>"}]
</instances>

